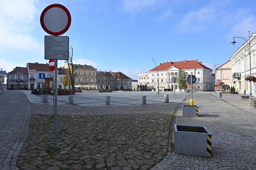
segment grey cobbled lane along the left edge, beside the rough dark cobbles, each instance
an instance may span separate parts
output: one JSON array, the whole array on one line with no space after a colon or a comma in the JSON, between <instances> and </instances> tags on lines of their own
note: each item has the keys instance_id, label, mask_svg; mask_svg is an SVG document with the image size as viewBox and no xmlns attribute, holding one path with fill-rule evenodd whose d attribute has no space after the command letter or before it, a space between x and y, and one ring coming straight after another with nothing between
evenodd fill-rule
<instances>
[{"instance_id":1,"label":"grey cobbled lane along the left edge, beside the rough dark cobbles","mask_svg":"<svg viewBox=\"0 0 256 170\"><path fill-rule=\"evenodd\" d=\"M17 169L16 161L28 127L29 119L25 119L30 102L22 92L2 90L0 93L0 169Z\"/></svg>"}]
</instances>

